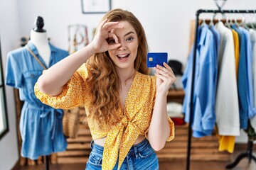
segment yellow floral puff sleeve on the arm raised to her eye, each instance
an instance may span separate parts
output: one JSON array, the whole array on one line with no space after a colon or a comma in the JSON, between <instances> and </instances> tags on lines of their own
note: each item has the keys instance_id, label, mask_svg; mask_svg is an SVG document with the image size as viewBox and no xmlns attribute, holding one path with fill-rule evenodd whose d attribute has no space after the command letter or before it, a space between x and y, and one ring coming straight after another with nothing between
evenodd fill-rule
<instances>
[{"instance_id":1,"label":"yellow floral puff sleeve on the arm raised to her eye","mask_svg":"<svg viewBox=\"0 0 256 170\"><path fill-rule=\"evenodd\" d=\"M87 69L83 64L73 77L63 87L63 91L58 96L44 94L35 84L36 97L48 106L53 108L70 109L78 106L86 106L90 101L90 88L86 83Z\"/></svg>"}]
</instances>

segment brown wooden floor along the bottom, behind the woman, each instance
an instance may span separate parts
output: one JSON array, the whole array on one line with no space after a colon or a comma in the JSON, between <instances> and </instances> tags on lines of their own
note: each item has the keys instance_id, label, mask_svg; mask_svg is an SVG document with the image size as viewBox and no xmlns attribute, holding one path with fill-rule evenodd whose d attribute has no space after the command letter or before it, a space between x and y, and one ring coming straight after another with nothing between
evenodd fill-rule
<instances>
[{"instance_id":1,"label":"brown wooden floor along the bottom, behind the woman","mask_svg":"<svg viewBox=\"0 0 256 170\"><path fill-rule=\"evenodd\" d=\"M238 154L245 152L245 147L235 149L234 160ZM254 154L255 155L255 154ZM225 166L231 162L191 162L190 170L225 170ZM160 170L186 170L186 161L159 162ZM45 165L22 166L13 170L45 170ZM50 170L84 170L85 164L50 164ZM149 169L150 170L150 169ZM256 170L256 162L249 164L247 158L243 158L233 170Z\"/></svg>"}]
</instances>

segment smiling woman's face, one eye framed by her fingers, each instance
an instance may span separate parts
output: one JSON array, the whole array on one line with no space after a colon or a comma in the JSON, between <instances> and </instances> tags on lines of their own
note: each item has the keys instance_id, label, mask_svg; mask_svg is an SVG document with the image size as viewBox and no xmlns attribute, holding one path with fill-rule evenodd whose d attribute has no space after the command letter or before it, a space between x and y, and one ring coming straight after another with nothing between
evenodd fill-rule
<instances>
[{"instance_id":1,"label":"smiling woman's face, one eye framed by her fingers","mask_svg":"<svg viewBox=\"0 0 256 170\"><path fill-rule=\"evenodd\" d=\"M128 21L119 21L121 29L114 29L112 33L117 35L118 42L121 46L115 50L109 50L111 60L119 69L134 68L134 60L137 57L139 40L136 30ZM114 39L109 40L109 43L115 43Z\"/></svg>"}]
</instances>

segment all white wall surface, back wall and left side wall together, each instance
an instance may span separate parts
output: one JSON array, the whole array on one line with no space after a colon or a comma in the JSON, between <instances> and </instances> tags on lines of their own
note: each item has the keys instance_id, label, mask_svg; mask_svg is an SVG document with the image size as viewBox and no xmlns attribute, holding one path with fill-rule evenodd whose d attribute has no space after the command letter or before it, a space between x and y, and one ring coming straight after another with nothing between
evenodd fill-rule
<instances>
[{"instance_id":1,"label":"all white wall surface, back wall and left side wall together","mask_svg":"<svg viewBox=\"0 0 256 170\"><path fill-rule=\"evenodd\" d=\"M85 24L90 39L102 14L82 14L80 0L0 0L1 47L5 70L7 52L19 47L21 36L29 36L36 16L42 16L44 28L53 45L68 50L68 25ZM186 4L186 5L184 5ZM151 51L169 52L169 58L186 64L189 22L199 8L217 9L213 0L112 0L112 8L132 11L142 22ZM255 0L230 0L224 9L255 9ZM240 15L241 16L241 15ZM10 132L0 141L0 167L10 169L18 159L14 94L6 87ZM246 142L245 138L242 141ZM10 145L11 144L11 145ZM5 152L2 152L3 149Z\"/></svg>"}]
</instances>

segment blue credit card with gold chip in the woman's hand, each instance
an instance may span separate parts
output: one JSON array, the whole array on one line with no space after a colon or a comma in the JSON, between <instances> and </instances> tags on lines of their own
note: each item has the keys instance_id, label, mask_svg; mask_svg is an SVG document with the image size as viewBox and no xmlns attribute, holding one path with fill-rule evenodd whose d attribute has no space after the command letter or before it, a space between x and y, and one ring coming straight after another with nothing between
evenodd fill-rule
<instances>
[{"instance_id":1,"label":"blue credit card with gold chip in the woman's hand","mask_svg":"<svg viewBox=\"0 0 256 170\"><path fill-rule=\"evenodd\" d=\"M164 62L167 63L167 52L148 52L146 56L146 66L156 67L157 64L164 67Z\"/></svg>"}]
</instances>

